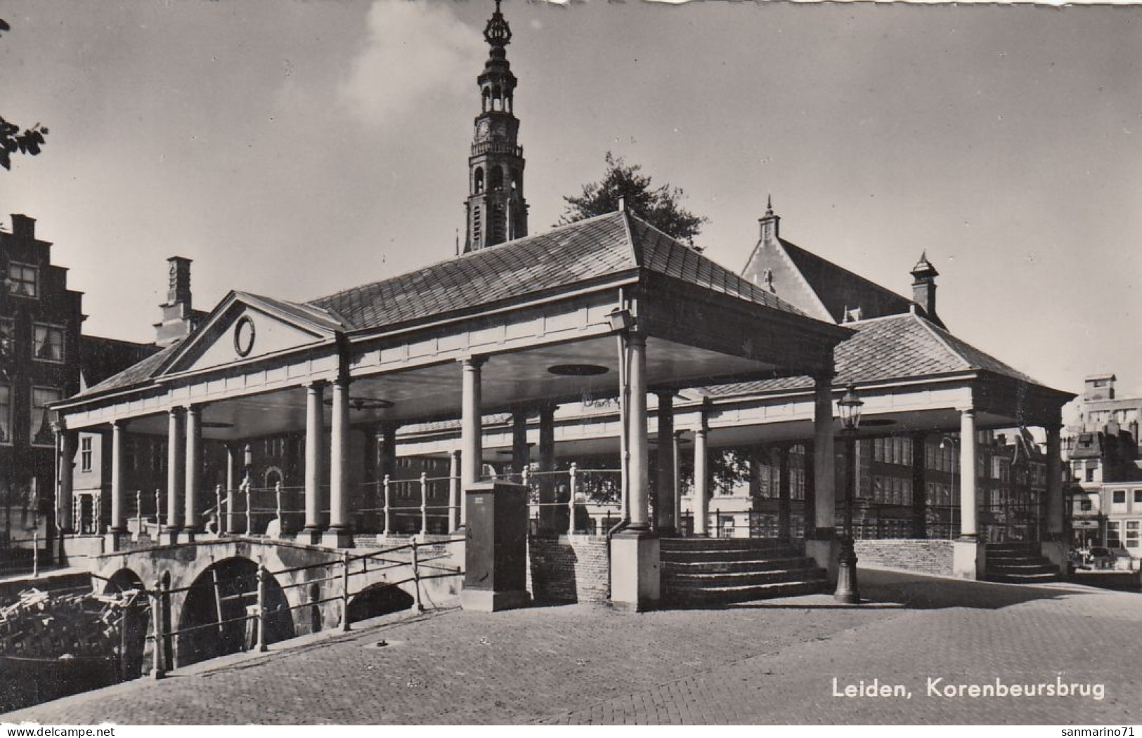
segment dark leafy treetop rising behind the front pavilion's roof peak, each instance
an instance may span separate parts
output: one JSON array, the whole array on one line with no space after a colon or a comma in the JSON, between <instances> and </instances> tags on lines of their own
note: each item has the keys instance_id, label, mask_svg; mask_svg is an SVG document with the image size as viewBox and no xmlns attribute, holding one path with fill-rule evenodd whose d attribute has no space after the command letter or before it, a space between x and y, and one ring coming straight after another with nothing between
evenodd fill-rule
<instances>
[{"instance_id":1,"label":"dark leafy treetop rising behind the front pavilion's roof peak","mask_svg":"<svg viewBox=\"0 0 1142 738\"><path fill-rule=\"evenodd\" d=\"M566 210L560 217L560 225L574 222L614 212L619 198L646 222L662 233L689 243L701 230L708 219L695 216L679 203L684 193L681 187L651 186L651 178L642 173L638 164L627 164L621 157L606 152L606 172L603 179L582 186L578 197L566 197Z\"/></svg>"}]
</instances>

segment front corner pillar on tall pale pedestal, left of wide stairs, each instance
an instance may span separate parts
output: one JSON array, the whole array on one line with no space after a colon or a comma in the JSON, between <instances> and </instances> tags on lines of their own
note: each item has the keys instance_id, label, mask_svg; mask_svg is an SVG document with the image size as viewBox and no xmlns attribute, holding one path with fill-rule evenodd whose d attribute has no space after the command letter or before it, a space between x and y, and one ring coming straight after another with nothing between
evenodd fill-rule
<instances>
[{"instance_id":1,"label":"front corner pillar on tall pale pedestal, left of wide stairs","mask_svg":"<svg viewBox=\"0 0 1142 738\"><path fill-rule=\"evenodd\" d=\"M650 532L650 476L646 438L646 338L625 336L630 371L627 403L627 465L630 524L611 538L611 605L638 611L654 607L660 597L659 542Z\"/></svg>"}]
</instances>

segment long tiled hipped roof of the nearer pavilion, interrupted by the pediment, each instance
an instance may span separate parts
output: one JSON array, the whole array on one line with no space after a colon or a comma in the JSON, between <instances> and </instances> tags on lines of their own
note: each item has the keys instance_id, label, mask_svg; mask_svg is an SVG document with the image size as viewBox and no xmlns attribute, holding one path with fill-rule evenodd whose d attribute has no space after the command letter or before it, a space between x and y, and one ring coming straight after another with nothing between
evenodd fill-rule
<instances>
[{"instance_id":1,"label":"long tiled hipped roof of the nearer pavilion, interrupted by the pediment","mask_svg":"<svg viewBox=\"0 0 1142 738\"><path fill-rule=\"evenodd\" d=\"M646 225L637 216L632 214L628 220L627 213L622 212L482 249L309 302L248 297L295 317L327 324L330 329L365 330L490 307L529 294L619 275L640 266L756 305L804 315L770 292ZM154 375L170 352L171 349L164 349L83 395L143 382Z\"/></svg>"}]
</instances>

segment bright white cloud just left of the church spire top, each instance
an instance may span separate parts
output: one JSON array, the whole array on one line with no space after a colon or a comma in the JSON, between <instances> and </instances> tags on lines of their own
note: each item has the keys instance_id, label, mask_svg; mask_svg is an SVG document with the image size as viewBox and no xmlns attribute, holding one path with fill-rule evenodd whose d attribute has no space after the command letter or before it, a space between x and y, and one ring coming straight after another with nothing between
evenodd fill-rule
<instances>
[{"instance_id":1,"label":"bright white cloud just left of the church spire top","mask_svg":"<svg viewBox=\"0 0 1142 738\"><path fill-rule=\"evenodd\" d=\"M343 104L385 123L424 100L471 95L486 47L480 29L461 23L451 3L377 0L368 40L338 86Z\"/></svg>"}]
</instances>

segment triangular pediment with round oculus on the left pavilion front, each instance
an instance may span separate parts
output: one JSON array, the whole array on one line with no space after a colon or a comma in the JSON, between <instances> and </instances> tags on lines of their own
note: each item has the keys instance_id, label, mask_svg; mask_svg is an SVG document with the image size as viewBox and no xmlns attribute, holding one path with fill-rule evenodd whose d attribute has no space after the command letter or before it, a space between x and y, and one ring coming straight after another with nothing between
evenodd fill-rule
<instances>
[{"instance_id":1,"label":"triangular pediment with round oculus on the left pavilion front","mask_svg":"<svg viewBox=\"0 0 1142 738\"><path fill-rule=\"evenodd\" d=\"M179 346L163 375L199 372L331 340L337 318L307 305L233 292Z\"/></svg>"}]
</instances>

